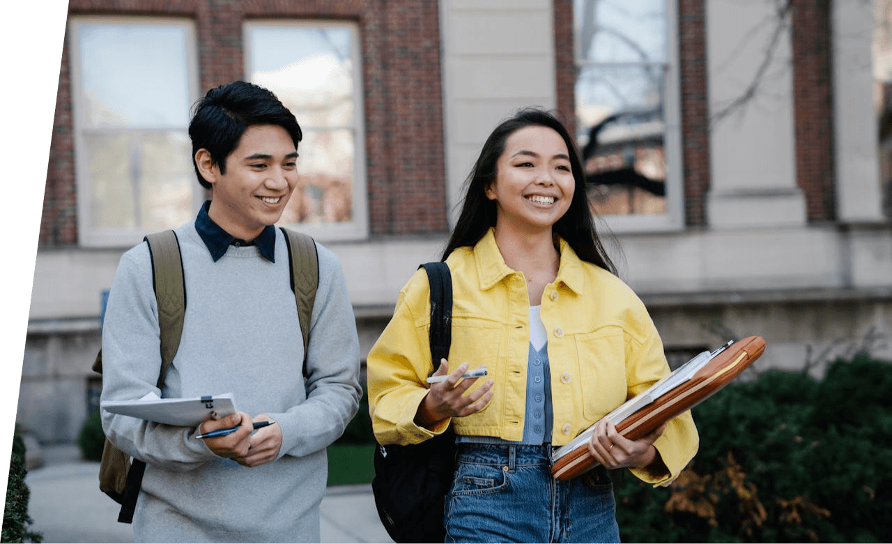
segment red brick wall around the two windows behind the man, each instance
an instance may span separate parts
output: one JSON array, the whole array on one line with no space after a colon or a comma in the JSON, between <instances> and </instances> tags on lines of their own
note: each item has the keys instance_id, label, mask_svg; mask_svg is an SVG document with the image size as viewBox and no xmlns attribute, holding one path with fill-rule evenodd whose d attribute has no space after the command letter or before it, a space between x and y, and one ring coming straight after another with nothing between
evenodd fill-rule
<instances>
[{"instance_id":1,"label":"red brick wall around the two windows behind the man","mask_svg":"<svg viewBox=\"0 0 892 544\"><path fill-rule=\"evenodd\" d=\"M369 230L373 235L447 230L436 2L70 0L69 14L193 19L202 91L244 78L242 24L246 19L357 21L366 113ZM46 175L41 247L71 246L78 240L69 52L66 39Z\"/></svg>"}]
</instances>

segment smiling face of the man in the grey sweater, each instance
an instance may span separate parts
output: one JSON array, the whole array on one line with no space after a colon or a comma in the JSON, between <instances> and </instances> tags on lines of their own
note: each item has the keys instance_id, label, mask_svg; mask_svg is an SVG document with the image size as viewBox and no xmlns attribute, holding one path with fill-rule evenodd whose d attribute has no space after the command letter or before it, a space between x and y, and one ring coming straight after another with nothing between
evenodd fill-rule
<instances>
[{"instance_id":1,"label":"smiling face of the man in the grey sweater","mask_svg":"<svg viewBox=\"0 0 892 544\"><path fill-rule=\"evenodd\" d=\"M238 239L257 238L279 220L297 184L297 149L278 125L253 125L226 158L226 173L205 149L195 154L213 196L208 215Z\"/></svg>"}]
</instances>

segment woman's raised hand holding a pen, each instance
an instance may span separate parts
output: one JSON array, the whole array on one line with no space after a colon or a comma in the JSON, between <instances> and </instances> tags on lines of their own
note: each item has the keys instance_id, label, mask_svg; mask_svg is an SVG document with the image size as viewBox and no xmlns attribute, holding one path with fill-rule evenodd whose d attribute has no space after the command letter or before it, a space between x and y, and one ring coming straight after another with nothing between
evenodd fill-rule
<instances>
[{"instance_id":1,"label":"woman's raised hand holding a pen","mask_svg":"<svg viewBox=\"0 0 892 544\"><path fill-rule=\"evenodd\" d=\"M492 380L487 380L480 389L465 395L465 391L479 380L479 378L461 378L461 375L467 372L467 367L467 363L462 363L454 371L449 372L449 362L446 359L440 360L440 368L434 372L434 376L449 374L449 377L445 381L432 383L425 399L418 405L415 423L419 427L431 427L448 417L475 414L490 402Z\"/></svg>"}]
</instances>

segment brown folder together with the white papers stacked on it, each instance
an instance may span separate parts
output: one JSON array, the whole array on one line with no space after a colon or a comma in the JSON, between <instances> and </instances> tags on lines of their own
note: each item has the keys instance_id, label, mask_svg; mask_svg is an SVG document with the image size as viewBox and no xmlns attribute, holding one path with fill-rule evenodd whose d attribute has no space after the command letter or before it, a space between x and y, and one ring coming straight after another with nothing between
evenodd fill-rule
<instances>
[{"instance_id":1,"label":"brown folder together with the white papers stacked on it","mask_svg":"<svg viewBox=\"0 0 892 544\"><path fill-rule=\"evenodd\" d=\"M640 439L714 395L762 356L764 350L765 340L761 336L750 336L728 342L714 352L704 352L708 356L699 354L640 395L617 406L605 418L614 423L624 438ZM593 430L594 425L554 451L551 475L556 480L570 480L598 464L587 446Z\"/></svg>"}]
</instances>

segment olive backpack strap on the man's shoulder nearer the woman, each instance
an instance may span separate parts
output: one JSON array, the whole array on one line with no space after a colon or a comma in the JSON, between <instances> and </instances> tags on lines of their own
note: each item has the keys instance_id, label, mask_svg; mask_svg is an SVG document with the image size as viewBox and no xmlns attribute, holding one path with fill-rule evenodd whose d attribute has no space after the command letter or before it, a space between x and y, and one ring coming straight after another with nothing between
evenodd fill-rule
<instances>
[{"instance_id":1,"label":"olive backpack strap on the man's shoulder nearer the woman","mask_svg":"<svg viewBox=\"0 0 892 544\"><path fill-rule=\"evenodd\" d=\"M301 323L303 336L303 375L307 375L307 348L310 345L310 316L316 301L319 286L319 255L316 242L296 230L280 227L288 245L288 259L291 262L291 289L297 302L297 318Z\"/></svg>"}]
</instances>

